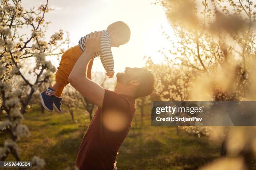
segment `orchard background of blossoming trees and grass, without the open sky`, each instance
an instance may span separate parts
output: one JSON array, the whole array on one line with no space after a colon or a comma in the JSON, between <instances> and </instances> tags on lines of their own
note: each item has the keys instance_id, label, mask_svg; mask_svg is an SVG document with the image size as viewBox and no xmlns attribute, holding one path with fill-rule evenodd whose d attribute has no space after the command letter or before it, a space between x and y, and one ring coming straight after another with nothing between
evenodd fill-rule
<instances>
[{"instance_id":1,"label":"orchard background of blossoming trees and grass, without the open sky","mask_svg":"<svg viewBox=\"0 0 256 170\"><path fill-rule=\"evenodd\" d=\"M159 30L163 60L144 56L156 88L136 102L118 169L256 169L255 127L150 125L153 100L256 99L256 3L164 0L151 5L161 7L169 24L169 30ZM64 33L69 30L46 37L52 10L48 0L31 9L22 0L1 0L0 160L32 161L34 169L76 169L77 150L97 106L71 86L63 94L63 113L45 112L40 104L39 93L54 79L52 60L72 45ZM110 90L115 86L115 79L100 70L92 79Z\"/></svg>"}]
</instances>

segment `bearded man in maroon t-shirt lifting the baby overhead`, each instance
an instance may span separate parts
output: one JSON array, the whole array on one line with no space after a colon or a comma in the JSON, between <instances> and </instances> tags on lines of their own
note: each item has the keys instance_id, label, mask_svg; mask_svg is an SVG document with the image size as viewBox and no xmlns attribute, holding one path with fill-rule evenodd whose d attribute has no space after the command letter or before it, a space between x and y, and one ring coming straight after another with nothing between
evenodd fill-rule
<instances>
[{"instance_id":1,"label":"bearded man in maroon t-shirt lifting the baby overhead","mask_svg":"<svg viewBox=\"0 0 256 170\"><path fill-rule=\"evenodd\" d=\"M114 91L106 90L84 76L95 51L100 48L101 32L86 39L86 50L69 75L70 84L84 97L98 105L77 155L80 170L116 170L116 156L126 138L134 116L135 99L150 95L154 77L144 68L125 68L117 73ZM87 73L88 74L88 73Z\"/></svg>"}]
</instances>

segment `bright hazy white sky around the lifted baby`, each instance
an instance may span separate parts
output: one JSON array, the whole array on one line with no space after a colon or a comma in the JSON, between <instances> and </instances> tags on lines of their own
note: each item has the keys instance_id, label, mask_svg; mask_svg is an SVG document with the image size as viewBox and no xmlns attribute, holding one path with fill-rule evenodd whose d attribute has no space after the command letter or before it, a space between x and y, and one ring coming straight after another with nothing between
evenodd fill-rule
<instances>
[{"instance_id":1,"label":"bright hazy white sky around the lifted baby","mask_svg":"<svg viewBox=\"0 0 256 170\"><path fill-rule=\"evenodd\" d=\"M111 23L121 20L131 29L128 44L112 47L115 72L125 67L143 67L143 56L151 56L158 63L163 60L159 50L168 48L169 42L162 35L171 30L165 12L155 0L49 0L53 11L46 14L46 21L51 21L46 37L58 30L68 31L72 45L77 45L80 37L96 31L105 30ZM23 6L39 7L46 0L24 0ZM49 58L57 67L59 61ZM93 70L104 70L100 60L96 59Z\"/></svg>"}]
</instances>

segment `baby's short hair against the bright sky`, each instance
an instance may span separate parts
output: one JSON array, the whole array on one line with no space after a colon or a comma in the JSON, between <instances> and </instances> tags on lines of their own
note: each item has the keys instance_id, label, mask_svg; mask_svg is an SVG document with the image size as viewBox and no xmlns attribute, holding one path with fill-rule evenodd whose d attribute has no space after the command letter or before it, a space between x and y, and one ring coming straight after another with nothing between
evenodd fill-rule
<instances>
[{"instance_id":1,"label":"baby's short hair against the bright sky","mask_svg":"<svg viewBox=\"0 0 256 170\"><path fill-rule=\"evenodd\" d=\"M130 40L131 36L131 30L127 24L125 24L123 21L117 21L115 23L112 23L108 25L107 28L108 31L115 30L117 31L118 35L120 37L123 37L124 42L128 42Z\"/></svg>"}]
</instances>

